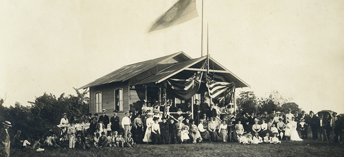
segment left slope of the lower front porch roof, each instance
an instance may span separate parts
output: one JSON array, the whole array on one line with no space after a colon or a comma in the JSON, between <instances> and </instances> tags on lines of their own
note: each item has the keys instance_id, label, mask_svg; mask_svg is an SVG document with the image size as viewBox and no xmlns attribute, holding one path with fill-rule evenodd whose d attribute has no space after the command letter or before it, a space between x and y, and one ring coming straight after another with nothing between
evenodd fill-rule
<instances>
[{"instance_id":1,"label":"left slope of the lower front porch roof","mask_svg":"<svg viewBox=\"0 0 344 157\"><path fill-rule=\"evenodd\" d=\"M169 77L183 71L186 68L191 67L192 65L205 60L206 56L203 56L201 58L196 58L196 59L192 59L189 61L184 61L184 62L180 62L180 63L175 63L173 65L171 65L170 67L154 74L151 75L149 77L147 77L146 79L143 79L133 85L139 85L139 84L146 84L146 83L151 83L151 82L158 82L158 81L163 81L165 79L168 79Z\"/></svg>"}]
</instances>

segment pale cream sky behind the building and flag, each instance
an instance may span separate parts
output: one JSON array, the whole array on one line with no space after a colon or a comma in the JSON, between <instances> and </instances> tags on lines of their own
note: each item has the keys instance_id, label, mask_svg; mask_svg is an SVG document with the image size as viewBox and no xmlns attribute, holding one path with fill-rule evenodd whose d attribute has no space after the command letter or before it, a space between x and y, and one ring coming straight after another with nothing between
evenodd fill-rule
<instances>
[{"instance_id":1,"label":"pale cream sky behind the building and flag","mask_svg":"<svg viewBox=\"0 0 344 157\"><path fill-rule=\"evenodd\" d=\"M148 33L178 0L0 1L0 97L29 105L123 65L201 56L201 16ZM201 0L196 0L201 15ZM211 57L257 96L277 90L305 111L344 113L344 1L204 0Z\"/></svg>"}]
</instances>

